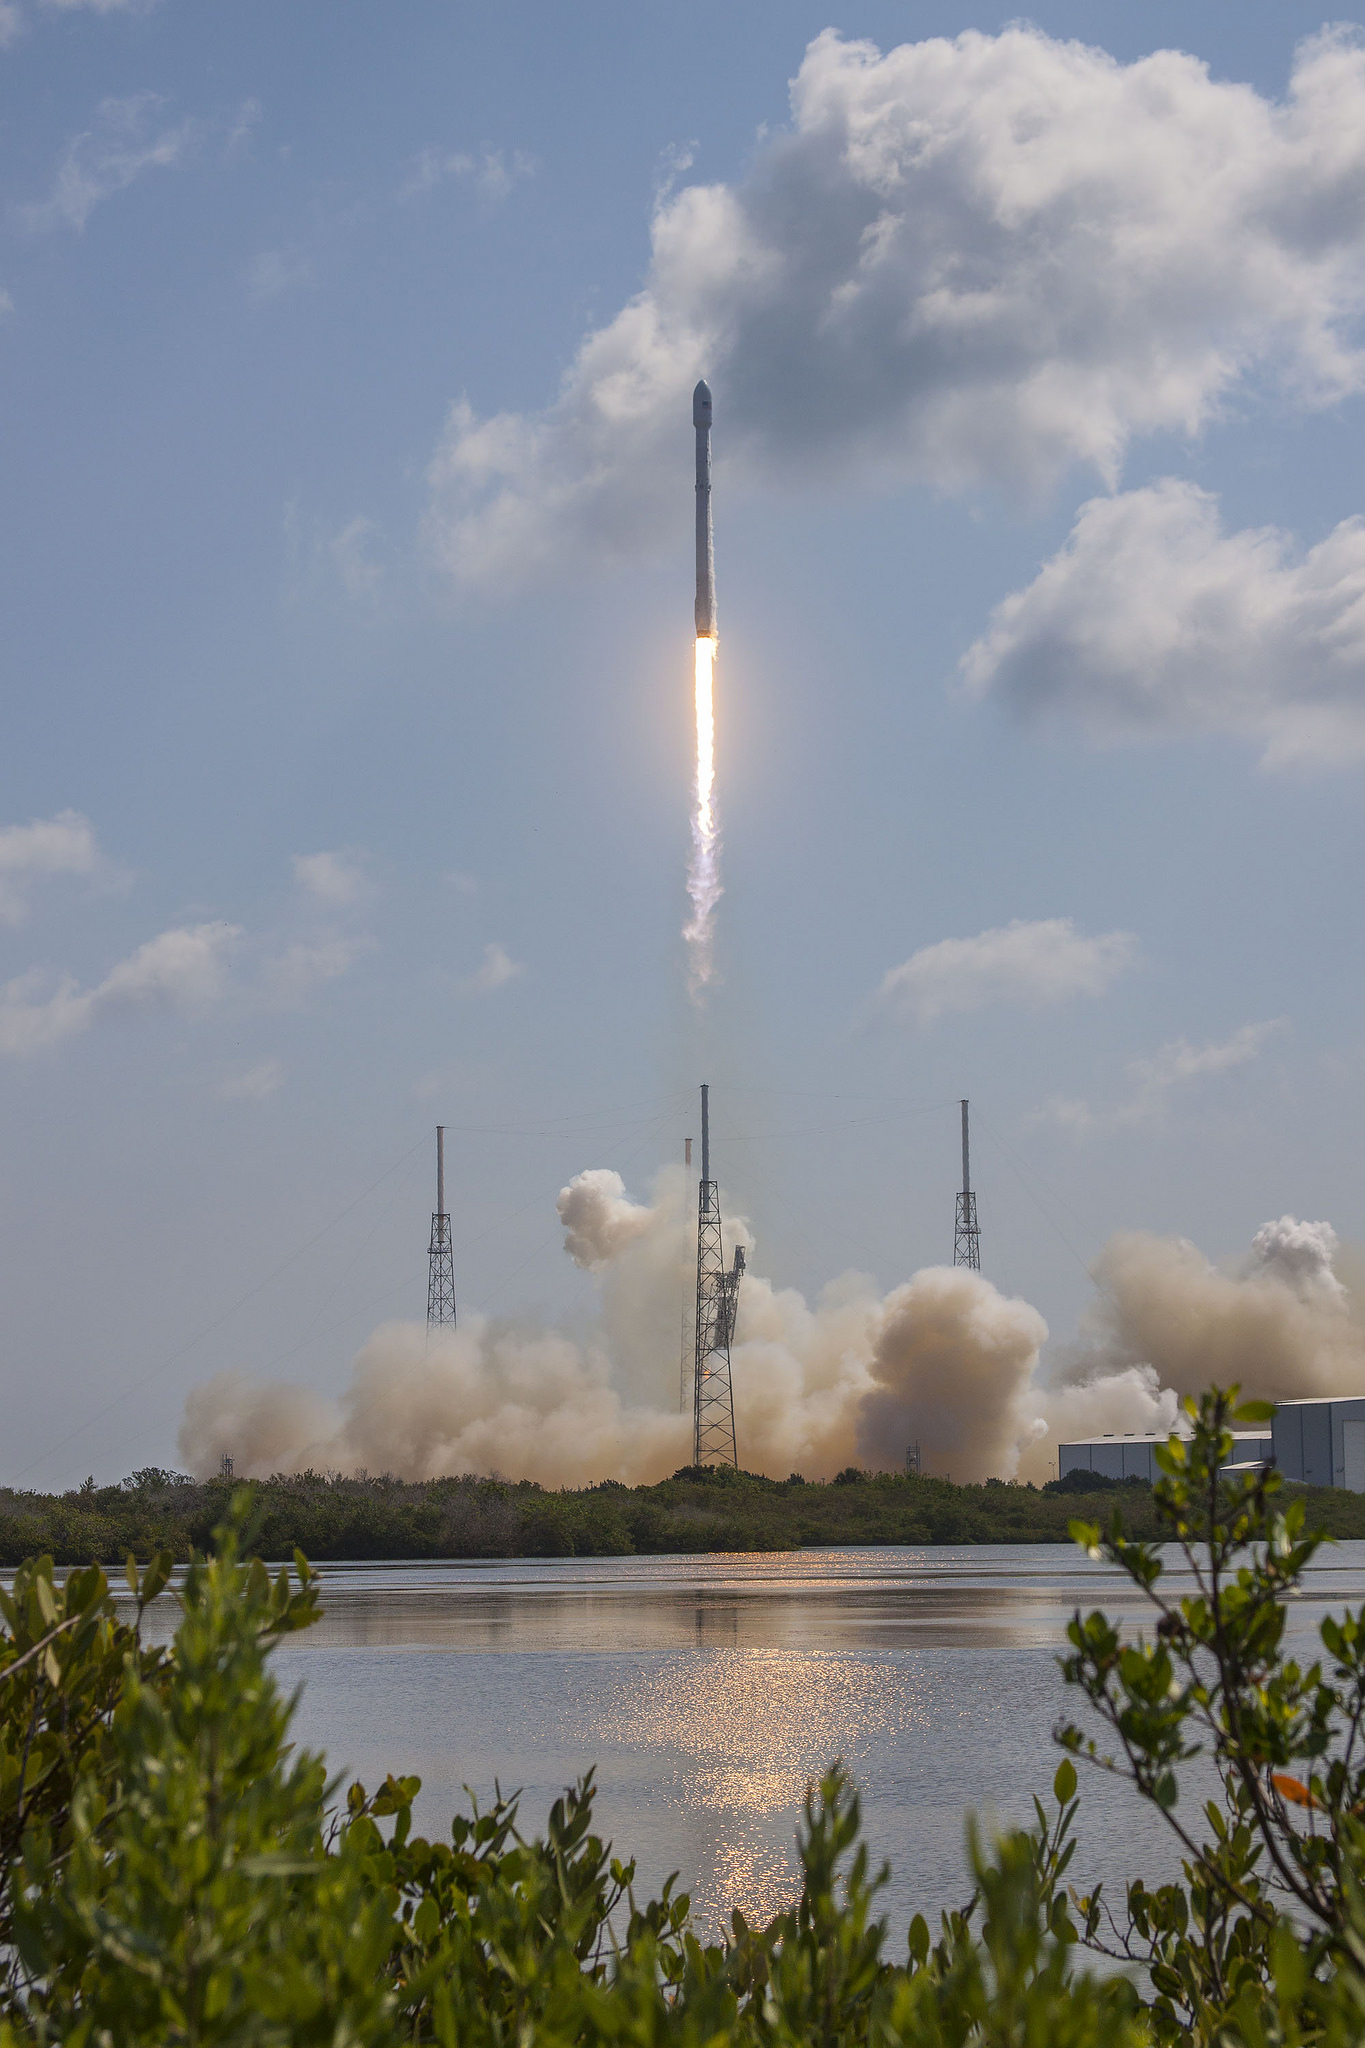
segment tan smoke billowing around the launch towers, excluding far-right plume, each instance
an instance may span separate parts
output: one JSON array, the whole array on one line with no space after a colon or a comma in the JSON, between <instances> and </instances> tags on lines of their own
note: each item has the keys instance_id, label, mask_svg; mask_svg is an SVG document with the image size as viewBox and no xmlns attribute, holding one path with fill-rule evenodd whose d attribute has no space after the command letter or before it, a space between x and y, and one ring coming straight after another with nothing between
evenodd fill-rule
<instances>
[{"instance_id":1,"label":"tan smoke billowing around the launch towers, excluding far-right plume","mask_svg":"<svg viewBox=\"0 0 1365 2048\"><path fill-rule=\"evenodd\" d=\"M370 1470L405 1479L505 1473L542 1485L641 1483L692 1456L677 1411L679 1307L692 1284L692 1186L665 1169L649 1204L618 1174L559 1196L565 1249L600 1286L587 1341L465 1315L454 1331L377 1329L340 1401L225 1372L184 1409L180 1456L213 1473ZM743 1219L726 1245L751 1249ZM1046 1427L1031 1380L1048 1327L980 1274L927 1268L890 1294L862 1274L810 1305L749 1276L735 1341L741 1462L780 1477L845 1464L1009 1477Z\"/></svg>"}]
</instances>

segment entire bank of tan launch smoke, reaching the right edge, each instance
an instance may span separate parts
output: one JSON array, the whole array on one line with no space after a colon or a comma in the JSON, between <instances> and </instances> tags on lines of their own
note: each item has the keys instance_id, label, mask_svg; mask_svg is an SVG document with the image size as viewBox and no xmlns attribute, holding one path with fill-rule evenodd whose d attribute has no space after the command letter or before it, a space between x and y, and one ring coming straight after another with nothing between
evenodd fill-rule
<instances>
[{"instance_id":1,"label":"entire bank of tan launch smoke, reaching the right edge","mask_svg":"<svg viewBox=\"0 0 1365 2048\"><path fill-rule=\"evenodd\" d=\"M694 1186L665 1169L649 1202L618 1174L559 1194L565 1249L600 1288L587 1339L467 1315L454 1331L387 1323L340 1401L225 1372L184 1409L180 1456L213 1473L370 1470L403 1479L501 1473L542 1485L663 1479L692 1454L677 1413L679 1276L694 1257ZM726 1210L729 1214L729 1210ZM1328 1225L1269 1223L1236 1270L1183 1239L1113 1237L1099 1303L1040 1382L1042 1315L980 1274L929 1266L882 1294L843 1274L814 1303L753 1274L733 1350L741 1464L831 1479L898 1470L907 1444L958 1481L1046 1479L1056 1444L1105 1430L1169 1430L1209 1380L1287 1399L1365 1393L1365 1327Z\"/></svg>"}]
</instances>

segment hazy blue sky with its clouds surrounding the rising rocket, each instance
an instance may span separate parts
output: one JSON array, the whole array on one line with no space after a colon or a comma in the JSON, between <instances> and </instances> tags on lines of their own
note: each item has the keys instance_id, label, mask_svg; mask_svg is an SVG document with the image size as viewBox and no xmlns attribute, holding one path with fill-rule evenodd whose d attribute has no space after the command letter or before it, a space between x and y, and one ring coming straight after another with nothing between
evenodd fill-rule
<instances>
[{"instance_id":1,"label":"hazy blue sky with its clouds surrounding the rising rocket","mask_svg":"<svg viewBox=\"0 0 1365 2048\"><path fill-rule=\"evenodd\" d=\"M460 1298L573 1329L557 1190L647 1194L704 1077L806 1296L950 1255L962 1094L1054 1341L1115 1231L1365 1237L1359 49L1295 117L1316 10L1031 20L0 8L0 1481L336 1391L422 1311L438 1120ZM909 154L849 172L802 63Z\"/></svg>"}]
</instances>

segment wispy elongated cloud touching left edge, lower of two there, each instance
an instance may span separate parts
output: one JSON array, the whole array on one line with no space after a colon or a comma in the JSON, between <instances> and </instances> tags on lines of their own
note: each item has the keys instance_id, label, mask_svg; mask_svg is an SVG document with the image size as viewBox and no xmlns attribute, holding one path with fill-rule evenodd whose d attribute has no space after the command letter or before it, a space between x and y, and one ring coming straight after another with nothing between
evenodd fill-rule
<instances>
[{"instance_id":1,"label":"wispy elongated cloud touching left edge, lower of two there","mask_svg":"<svg viewBox=\"0 0 1365 2048\"><path fill-rule=\"evenodd\" d=\"M233 924L199 924L162 932L121 961L94 989L70 975L43 995L41 971L0 987L0 1055L41 1053L117 1010L201 1010L223 993L227 952L239 938Z\"/></svg>"}]
</instances>

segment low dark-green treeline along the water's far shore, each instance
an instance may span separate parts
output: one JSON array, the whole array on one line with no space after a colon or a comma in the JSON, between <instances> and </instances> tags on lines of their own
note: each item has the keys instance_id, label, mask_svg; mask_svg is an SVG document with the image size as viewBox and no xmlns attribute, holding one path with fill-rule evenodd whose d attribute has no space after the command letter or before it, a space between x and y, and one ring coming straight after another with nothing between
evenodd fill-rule
<instances>
[{"instance_id":1,"label":"low dark-green treeline along the water's far shore","mask_svg":"<svg viewBox=\"0 0 1365 2048\"><path fill-rule=\"evenodd\" d=\"M59 1565L207 1550L229 1479L147 1468L117 1487L72 1493L0 1487L0 1565L49 1552ZM829 1483L688 1466L655 1487L608 1481L546 1493L532 1481L327 1473L256 1485L252 1548L289 1559L630 1556L704 1550L821 1550L851 1544L1066 1542L1078 1516L1107 1522L1115 1495L1134 1536L1156 1532L1150 1487L1068 1475L1050 1487L956 1487L948 1479L845 1470ZM1310 1522L1365 1536L1365 1495L1306 1489Z\"/></svg>"}]
</instances>

